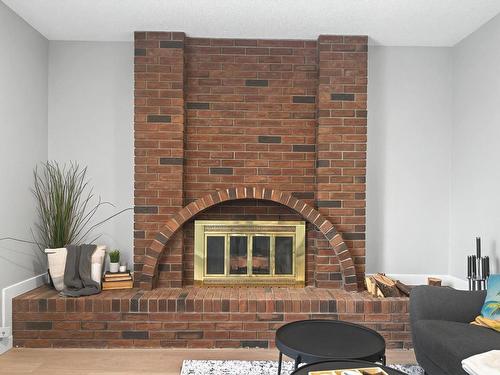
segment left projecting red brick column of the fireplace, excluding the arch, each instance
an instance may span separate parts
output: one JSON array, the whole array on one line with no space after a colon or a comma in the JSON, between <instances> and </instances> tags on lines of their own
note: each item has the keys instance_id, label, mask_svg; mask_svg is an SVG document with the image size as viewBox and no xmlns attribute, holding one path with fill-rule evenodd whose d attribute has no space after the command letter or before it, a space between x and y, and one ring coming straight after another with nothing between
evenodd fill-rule
<instances>
[{"instance_id":1,"label":"left projecting red brick column of the fireplace, excluding the arch","mask_svg":"<svg viewBox=\"0 0 500 375\"><path fill-rule=\"evenodd\" d=\"M184 33L135 33L136 280L149 242L184 203L184 40ZM181 286L182 248L178 233L162 259L168 286Z\"/></svg>"}]
</instances>

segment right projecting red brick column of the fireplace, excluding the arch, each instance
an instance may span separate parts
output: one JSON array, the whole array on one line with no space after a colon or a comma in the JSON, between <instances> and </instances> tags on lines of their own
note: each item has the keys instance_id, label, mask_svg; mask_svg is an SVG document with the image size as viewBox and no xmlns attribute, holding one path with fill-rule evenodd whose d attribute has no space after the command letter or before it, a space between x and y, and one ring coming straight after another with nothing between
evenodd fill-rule
<instances>
[{"instance_id":1,"label":"right projecting red brick column of the fireplace, excluding the arch","mask_svg":"<svg viewBox=\"0 0 500 375\"><path fill-rule=\"evenodd\" d=\"M365 272L367 37L318 40L318 210L332 222Z\"/></svg>"}]
</instances>

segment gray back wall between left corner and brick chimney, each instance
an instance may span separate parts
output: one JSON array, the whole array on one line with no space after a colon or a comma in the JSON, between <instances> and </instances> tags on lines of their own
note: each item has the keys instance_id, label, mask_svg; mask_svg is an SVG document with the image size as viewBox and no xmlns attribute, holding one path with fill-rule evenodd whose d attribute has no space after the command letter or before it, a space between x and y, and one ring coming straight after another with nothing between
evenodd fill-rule
<instances>
[{"instance_id":1,"label":"gray back wall between left corner and brick chimney","mask_svg":"<svg viewBox=\"0 0 500 375\"><path fill-rule=\"evenodd\" d=\"M88 167L96 196L116 206L104 207L97 222L133 205L133 44L51 41L49 49L49 159ZM132 211L100 233L96 242L131 264Z\"/></svg>"}]
</instances>

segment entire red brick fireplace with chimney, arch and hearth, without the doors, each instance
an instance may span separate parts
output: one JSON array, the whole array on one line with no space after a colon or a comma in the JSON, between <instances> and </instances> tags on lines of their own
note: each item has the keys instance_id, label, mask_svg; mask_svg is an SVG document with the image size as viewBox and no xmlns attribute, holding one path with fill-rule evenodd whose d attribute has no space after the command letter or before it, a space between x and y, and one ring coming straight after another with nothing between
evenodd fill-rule
<instances>
[{"instance_id":1,"label":"entire red brick fireplace with chimney, arch and hearth, without the doors","mask_svg":"<svg viewBox=\"0 0 500 375\"><path fill-rule=\"evenodd\" d=\"M271 348L315 318L410 347L408 299L362 291L367 38L137 32L134 52L136 288L24 294L14 345ZM197 220L305 223L305 287L195 285Z\"/></svg>"}]
</instances>

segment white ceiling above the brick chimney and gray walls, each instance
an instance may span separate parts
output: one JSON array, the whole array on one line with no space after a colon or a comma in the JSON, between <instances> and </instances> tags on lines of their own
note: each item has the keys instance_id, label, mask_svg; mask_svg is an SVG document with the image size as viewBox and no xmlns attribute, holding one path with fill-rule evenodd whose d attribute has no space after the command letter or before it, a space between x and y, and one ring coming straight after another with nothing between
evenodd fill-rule
<instances>
[{"instance_id":1,"label":"white ceiling above the brick chimney and gray walls","mask_svg":"<svg viewBox=\"0 0 500 375\"><path fill-rule=\"evenodd\" d=\"M136 30L220 38L451 46L500 12L500 0L3 0L50 40L130 41Z\"/></svg>"}]
</instances>

